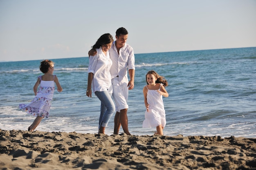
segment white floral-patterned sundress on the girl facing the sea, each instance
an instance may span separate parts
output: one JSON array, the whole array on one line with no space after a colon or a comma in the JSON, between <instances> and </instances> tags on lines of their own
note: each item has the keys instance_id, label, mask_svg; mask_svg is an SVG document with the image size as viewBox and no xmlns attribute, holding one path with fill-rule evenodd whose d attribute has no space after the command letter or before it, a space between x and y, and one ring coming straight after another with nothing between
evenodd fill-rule
<instances>
[{"instance_id":1,"label":"white floral-patterned sundress on the girl facing the sea","mask_svg":"<svg viewBox=\"0 0 256 170\"><path fill-rule=\"evenodd\" d=\"M55 88L54 78L53 81L43 81L42 76L38 78L40 79L40 87L36 97L34 97L30 104L20 104L20 109L33 116L48 118Z\"/></svg>"}]
</instances>

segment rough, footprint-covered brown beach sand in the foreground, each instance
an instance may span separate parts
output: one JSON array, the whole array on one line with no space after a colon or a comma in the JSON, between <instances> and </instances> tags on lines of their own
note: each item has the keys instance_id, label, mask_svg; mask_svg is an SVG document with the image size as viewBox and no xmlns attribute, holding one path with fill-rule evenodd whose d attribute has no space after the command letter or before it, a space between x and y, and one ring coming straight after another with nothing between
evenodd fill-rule
<instances>
[{"instance_id":1,"label":"rough, footprint-covered brown beach sand in the foreground","mask_svg":"<svg viewBox=\"0 0 256 170\"><path fill-rule=\"evenodd\" d=\"M2 170L256 170L256 139L0 130Z\"/></svg>"}]
</instances>

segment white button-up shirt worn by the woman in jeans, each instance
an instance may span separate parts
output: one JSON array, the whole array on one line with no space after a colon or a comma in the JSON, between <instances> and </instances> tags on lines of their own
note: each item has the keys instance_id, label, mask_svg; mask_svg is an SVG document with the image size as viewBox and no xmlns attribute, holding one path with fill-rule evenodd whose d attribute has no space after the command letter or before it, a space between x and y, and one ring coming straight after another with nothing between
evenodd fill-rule
<instances>
[{"instance_id":1,"label":"white button-up shirt worn by the woman in jeans","mask_svg":"<svg viewBox=\"0 0 256 170\"><path fill-rule=\"evenodd\" d=\"M108 91L111 87L110 67L112 61L109 51L105 55L101 49L96 49L97 55L89 58L88 73L93 73L92 91Z\"/></svg>"}]
</instances>

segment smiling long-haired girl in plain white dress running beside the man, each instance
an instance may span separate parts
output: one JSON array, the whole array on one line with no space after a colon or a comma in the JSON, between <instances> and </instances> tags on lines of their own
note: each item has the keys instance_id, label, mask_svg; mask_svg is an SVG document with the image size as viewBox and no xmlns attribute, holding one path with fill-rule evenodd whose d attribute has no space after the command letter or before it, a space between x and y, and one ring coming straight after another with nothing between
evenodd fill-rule
<instances>
[{"instance_id":1,"label":"smiling long-haired girl in plain white dress running beside the man","mask_svg":"<svg viewBox=\"0 0 256 170\"><path fill-rule=\"evenodd\" d=\"M168 82L153 70L148 71L146 74L146 82L147 85L143 88L146 111L142 127L156 127L157 132L155 132L155 135L164 135L163 129L166 125L166 119L162 96L169 96L165 89L168 86Z\"/></svg>"}]
</instances>

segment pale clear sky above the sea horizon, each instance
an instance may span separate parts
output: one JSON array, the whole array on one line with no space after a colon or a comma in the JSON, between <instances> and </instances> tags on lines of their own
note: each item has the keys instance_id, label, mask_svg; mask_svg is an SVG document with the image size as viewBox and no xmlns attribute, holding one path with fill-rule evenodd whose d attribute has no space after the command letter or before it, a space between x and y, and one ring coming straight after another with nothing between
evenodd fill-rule
<instances>
[{"instance_id":1,"label":"pale clear sky above the sea horizon","mask_svg":"<svg viewBox=\"0 0 256 170\"><path fill-rule=\"evenodd\" d=\"M0 0L0 61L87 57L119 27L135 56L256 47L256 0Z\"/></svg>"}]
</instances>

